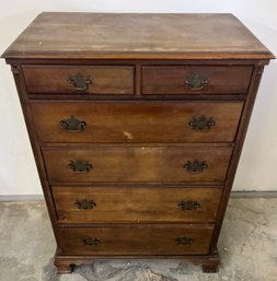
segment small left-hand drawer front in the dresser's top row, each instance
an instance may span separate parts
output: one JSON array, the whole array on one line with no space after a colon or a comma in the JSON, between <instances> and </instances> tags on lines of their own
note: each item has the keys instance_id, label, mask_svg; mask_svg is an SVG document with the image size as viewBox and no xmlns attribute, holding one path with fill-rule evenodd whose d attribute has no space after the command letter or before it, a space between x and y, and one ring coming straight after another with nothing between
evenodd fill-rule
<instances>
[{"instance_id":1,"label":"small left-hand drawer front in the dresser's top row","mask_svg":"<svg viewBox=\"0 0 277 281\"><path fill-rule=\"evenodd\" d=\"M24 66L28 93L134 94L134 68Z\"/></svg>"}]
</instances>

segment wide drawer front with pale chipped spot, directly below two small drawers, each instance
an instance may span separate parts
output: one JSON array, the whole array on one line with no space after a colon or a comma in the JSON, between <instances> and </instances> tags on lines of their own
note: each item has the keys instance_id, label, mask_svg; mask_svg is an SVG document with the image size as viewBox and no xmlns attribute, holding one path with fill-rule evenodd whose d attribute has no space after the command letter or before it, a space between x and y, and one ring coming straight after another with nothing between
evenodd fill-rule
<instances>
[{"instance_id":1,"label":"wide drawer front with pale chipped spot, directly below two small drawers","mask_svg":"<svg viewBox=\"0 0 277 281\"><path fill-rule=\"evenodd\" d=\"M242 102L32 102L41 142L233 141Z\"/></svg>"}]
</instances>

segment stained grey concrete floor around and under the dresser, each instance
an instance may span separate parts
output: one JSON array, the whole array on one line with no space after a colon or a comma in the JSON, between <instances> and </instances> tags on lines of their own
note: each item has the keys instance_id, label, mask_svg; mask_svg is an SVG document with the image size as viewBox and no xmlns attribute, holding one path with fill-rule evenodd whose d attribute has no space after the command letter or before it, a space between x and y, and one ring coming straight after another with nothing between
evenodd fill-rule
<instances>
[{"instance_id":1,"label":"stained grey concrete floor around and under the dresser","mask_svg":"<svg viewBox=\"0 0 277 281\"><path fill-rule=\"evenodd\" d=\"M277 281L277 198L232 198L219 273L177 260L99 260L56 276L44 202L0 203L0 281Z\"/></svg>"}]
</instances>

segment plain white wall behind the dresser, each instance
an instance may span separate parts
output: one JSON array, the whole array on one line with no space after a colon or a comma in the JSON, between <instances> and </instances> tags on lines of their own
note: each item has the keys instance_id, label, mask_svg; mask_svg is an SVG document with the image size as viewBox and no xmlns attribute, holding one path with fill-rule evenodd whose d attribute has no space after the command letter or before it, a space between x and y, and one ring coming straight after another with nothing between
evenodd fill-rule
<instances>
[{"instance_id":1,"label":"plain white wall behind the dresser","mask_svg":"<svg viewBox=\"0 0 277 281\"><path fill-rule=\"evenodd\" d=\"M0 52L42 11L231 12L277 55L275 0L0 0ZM266 68L234 190L277 190L277 61ZM0 195L42 192L9 66L0 61Z\"/></svg>"}]
</instances>

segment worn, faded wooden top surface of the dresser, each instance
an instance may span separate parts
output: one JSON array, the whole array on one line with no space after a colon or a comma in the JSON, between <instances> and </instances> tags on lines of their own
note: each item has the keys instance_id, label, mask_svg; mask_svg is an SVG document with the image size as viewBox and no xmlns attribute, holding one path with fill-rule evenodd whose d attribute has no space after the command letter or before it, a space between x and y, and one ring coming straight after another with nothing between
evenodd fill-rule
<instances>
[{"instance_id":1,"label":"worn, faded wooden top surface of the dresser","mask_svg":"<svg viewBox=\"0 0 277 281\"><path fill-rule=\"evenodd\" d=\"M41 13L4 58L272 59L232 14Z\"/></svg>"}]
</instances>

